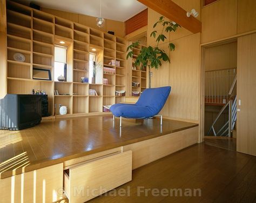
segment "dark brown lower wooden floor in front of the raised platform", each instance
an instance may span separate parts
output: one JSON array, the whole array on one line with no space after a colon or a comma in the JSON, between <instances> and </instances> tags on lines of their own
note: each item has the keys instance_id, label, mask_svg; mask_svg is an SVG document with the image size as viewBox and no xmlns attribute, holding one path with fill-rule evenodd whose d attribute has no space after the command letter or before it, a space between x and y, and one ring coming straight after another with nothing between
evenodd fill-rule
<instances>
[{"instance_id":1,"label":"dark brown lower wooden floor in front of the raised platform","mask_svg":"<svg viewBox=\"0 0 256 203\"><path fill-rule=\"evenodd\" d=\"M138 197L138 186L183 191L200 188L201 197L153 197L150 192L148 197L144 193ZM130 197L103 196L89 202L256 202L256 157L197 144L137 168L132 173L132 181L117 191L127 187L130 187Z\"/></svg>"}]
</instances>

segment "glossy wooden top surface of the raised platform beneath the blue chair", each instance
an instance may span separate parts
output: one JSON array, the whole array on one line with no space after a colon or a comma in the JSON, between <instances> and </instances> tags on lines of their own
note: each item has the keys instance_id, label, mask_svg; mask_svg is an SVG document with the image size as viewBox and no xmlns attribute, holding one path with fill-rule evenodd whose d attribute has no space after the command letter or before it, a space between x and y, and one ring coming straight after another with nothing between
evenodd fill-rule
<instances>
[{"instance_id":1,"label":"glossy wooden top surface of the raised platform beneath the blue chair","mask_svg":"<svg viewBox=\"0 0 256 203\"><path fill-rule=\"evenodd\" d=\"M0 178L63 163L71 159L138 143L196 127L176 120L124 119L119 128L111 116L44 120L21 131L0 131Z\"/></svg>"}]
</instances>

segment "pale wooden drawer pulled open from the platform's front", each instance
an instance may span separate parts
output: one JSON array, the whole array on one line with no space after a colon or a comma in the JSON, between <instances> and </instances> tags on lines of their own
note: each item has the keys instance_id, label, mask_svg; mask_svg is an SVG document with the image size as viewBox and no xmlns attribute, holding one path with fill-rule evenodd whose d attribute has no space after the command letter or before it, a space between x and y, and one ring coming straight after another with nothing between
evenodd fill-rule
<instances>
[{"instance_id":1,"label":"pale wooden drawer pulled open from the platform's front","mask_svg":"<svg viewBox=\"0 0 256 203\"><path fill-rule=\"evenodd\" d=\"M132 179L132 151L116 152L64 171L69 202L85 202Z\"/></svg>"}]
</instances>

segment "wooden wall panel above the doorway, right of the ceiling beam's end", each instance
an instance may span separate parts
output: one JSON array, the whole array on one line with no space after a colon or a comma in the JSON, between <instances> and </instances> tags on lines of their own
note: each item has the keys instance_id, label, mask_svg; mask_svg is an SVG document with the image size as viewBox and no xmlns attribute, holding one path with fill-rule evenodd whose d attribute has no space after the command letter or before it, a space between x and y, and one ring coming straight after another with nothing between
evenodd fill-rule
<instances>
[{"instance_id":1,"label":"wooden wall panel above the doorway, right of the ceiling beam's end","mask_svg":"<svg viewBox=\"0 0 256 203\"><path fill-rule=\"evenodd\" d=\"M237 0L221 0L201 9L201 43L237 34Z\"/></svg>"}]
</instances>

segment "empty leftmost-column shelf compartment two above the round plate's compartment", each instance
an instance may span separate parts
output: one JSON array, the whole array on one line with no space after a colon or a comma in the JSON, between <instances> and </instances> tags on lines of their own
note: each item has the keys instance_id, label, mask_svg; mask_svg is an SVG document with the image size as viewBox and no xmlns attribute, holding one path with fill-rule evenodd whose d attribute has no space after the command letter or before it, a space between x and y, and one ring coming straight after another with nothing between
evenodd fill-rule
<instances>
[{"instance_id":1,"label":"empty leftmost-column shelf compartment two above the round plate's compartment","mask_svg":"<svg viewBox=\"0 0 256 203\"><path fill-rule=\"evenodd\" d=\"M13 23L7 23L7 34L19 38L31 39L31 29Z\"/></svg>"}]
</instances>

